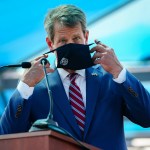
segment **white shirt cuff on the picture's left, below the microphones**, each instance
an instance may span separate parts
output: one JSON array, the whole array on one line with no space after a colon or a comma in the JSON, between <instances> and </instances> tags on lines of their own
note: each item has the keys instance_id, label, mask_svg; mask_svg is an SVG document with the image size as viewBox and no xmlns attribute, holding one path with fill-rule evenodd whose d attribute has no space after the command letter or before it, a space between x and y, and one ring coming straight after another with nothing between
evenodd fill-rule
<instances>
[{"instance_id":1,"label":"white shirt cuff on the picture's left, below the microphones","mask_svg":"<svg viewBox=\"0 0 150 150\"><path fill-rule=\"evenodd\" d=\"M34 87L29 87L26 83L20 81L17 89L21 97L27 100L33 94Z\"/></svg>"}]
</instances>

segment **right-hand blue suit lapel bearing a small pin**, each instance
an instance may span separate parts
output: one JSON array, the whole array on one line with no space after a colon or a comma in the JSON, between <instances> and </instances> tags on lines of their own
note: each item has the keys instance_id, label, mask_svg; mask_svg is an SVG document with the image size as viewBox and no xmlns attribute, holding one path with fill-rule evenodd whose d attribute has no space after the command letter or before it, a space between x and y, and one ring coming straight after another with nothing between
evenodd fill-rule
<instances>
[{"instance_id":1,"label":"right-hand blue suit lapel bearing a small pin","mask_svg":"<svg viewBox=\"0 0 150 150\"><path fill-rule=\"evenodd\" d=\"M84 139L89 130L90 124L92 122L92 117L94 114L98 91L100 88L100 73L96 69L90 68L86 70L86 120L85 120L85 130Z\"/></svg>"}]
</instances>

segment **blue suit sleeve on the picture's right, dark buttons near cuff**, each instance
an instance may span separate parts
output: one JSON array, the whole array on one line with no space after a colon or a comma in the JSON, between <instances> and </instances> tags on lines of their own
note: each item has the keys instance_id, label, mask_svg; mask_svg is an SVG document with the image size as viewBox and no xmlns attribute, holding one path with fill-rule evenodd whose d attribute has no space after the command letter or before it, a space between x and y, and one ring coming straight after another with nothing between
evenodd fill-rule
<instances>
[{"instance_id":1,"label":"blue suit sleeve on the picture's right, dark buttons near cuff","mask_svg":"<svg viewBox=\"0 0 150 150\"><path fill-rule=\"evenodd\" d=\"M141 82L127 71L119 90L124 99L124 115L142 127L150 127L150 93Z\"/></svg>"}]
</instances>

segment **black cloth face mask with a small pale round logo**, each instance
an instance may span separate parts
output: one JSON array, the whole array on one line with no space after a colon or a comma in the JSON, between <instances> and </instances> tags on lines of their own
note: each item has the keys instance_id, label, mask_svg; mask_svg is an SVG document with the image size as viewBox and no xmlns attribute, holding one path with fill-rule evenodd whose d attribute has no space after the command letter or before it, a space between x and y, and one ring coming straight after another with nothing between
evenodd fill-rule
<instances>
[{"instance_id":1,"label":"black cloth face mask with a small pale round logo","mask_svg":"<svg viewBox=\"0 0 150 150\"><path fill-rule=\"evenodd\" d=\"M70 43L53 50L57 52L57 68L80 70L93 66L90 45Z\"/></svg>"}]
</instances>

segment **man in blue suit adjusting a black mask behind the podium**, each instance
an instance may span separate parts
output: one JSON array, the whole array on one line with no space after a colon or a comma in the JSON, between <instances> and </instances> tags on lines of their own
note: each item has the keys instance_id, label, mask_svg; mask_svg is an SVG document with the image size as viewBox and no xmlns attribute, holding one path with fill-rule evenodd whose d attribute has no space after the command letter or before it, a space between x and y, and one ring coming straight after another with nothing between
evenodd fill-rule
<instances>
[{"instance_id":1,"label":"man in blue suit adjusting a black mask behind the podium","mask_svg":"<svg viewBox=\"0 0 150 150\"><path fill-rule=\"evenodd\" d=\"M86 66L89 60L80 55L82 49L68 50L75 57L72 66L65 66L68 60L64 57L59 61L60 52L70 46L84 49L88 44L86 19L79 8L63 5L53 9L45 19L45 29L47 44L55 50L56 66L64 65L57 69L46 65L54 99L54 120L81 141L104 150L125 150L123 116L149 127L150 94L123 68L113 49L97 40L91 49L95 52L93 66ZM27 132L34 121L47 117L49 98L40 63L43 57L47 56L35 59L21 79L1 118L1 134ZM78 61L83 63L75 69ZM80 99L80 104L75 99Z\"/></svg>"}]
</instances>

